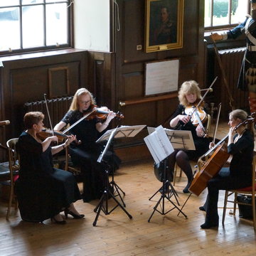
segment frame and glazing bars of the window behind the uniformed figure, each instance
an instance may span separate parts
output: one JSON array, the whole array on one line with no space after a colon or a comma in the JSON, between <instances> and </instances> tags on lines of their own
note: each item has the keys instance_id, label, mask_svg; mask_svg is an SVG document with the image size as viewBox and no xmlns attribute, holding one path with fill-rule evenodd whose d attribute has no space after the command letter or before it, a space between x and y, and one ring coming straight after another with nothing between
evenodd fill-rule
<instances>
[{"instance_id":1,"label":"frame and glazing bars of the window behind the uniformed figure","mask_svg":"<svg viewBox=\"0 0 256 256\"><path fill-rule=\"evenodd\" d=\"M220 26L213 26L213 1L214 0L210 0L211 1L211 14L210 14L210 24L211 26L205 26L204 27L204 31L205 33L207 32L210 32L210 31L219 31L219 30L228 30L228 29L231 29L231 28L235 28L235 26L238 26L238 23L234 23L234 24L231 24L231 2L232 0L228 0L229 1L229 10L228 10L228 22L229 24L225 24L225 25L220 25ZM250 3L250 0L247 0L248 1L248 9L247 9L247 14L250 14L250 11L251 11L251 3ZM205 1L204 1L204 4L205 4ZM204 6L205 8L205 6Z\"/></svg>"}]
</instances>

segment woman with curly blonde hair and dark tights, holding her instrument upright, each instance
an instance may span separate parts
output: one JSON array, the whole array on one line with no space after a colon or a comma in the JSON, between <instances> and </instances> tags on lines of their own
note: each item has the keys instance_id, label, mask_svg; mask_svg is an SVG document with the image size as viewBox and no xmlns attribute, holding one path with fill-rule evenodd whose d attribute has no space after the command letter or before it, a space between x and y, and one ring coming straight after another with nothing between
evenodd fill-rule
<instances>
[{"instance_id":1,"label":"woman with curly blonde hair and dark tights, holding her instrument upright","mask_svg":"<svg viewBox=\"0 0 256 256\"><path fill-rule=\"evenodd\" d=\"M201 91L198 87L198 83L196 81L186 81L183 82L181 88L178 92L178 100L180 104L176 112L174 112L171 117L170 126L174 129L183 129L191 131L193 136L193 142L196 146L196 150L178 150L176 149L169 156L169 169L171 171L174 170L175 163L181 167L188 178L188 183L186 187L183 189L183 193L188 193L188 187L193 179L191 165L189 163L190 160L197 160L202 154L208 151L209 141L205 137L205 130L201 126L201 124L194 125L191 122L191 113L193 112L193 106L196 107L196 103L201 99ZM203 118L206 116L206 112L204 112L203 108L200 107L200 114L203 114ZM186 112L188 110L188 112ZM192 112L191 112L192 110ZM198 111L198 110L196 110ZM196 121L196 117L193 118ZM171 174L169 174L171 176Z\"/></svg>"}]
</instances>

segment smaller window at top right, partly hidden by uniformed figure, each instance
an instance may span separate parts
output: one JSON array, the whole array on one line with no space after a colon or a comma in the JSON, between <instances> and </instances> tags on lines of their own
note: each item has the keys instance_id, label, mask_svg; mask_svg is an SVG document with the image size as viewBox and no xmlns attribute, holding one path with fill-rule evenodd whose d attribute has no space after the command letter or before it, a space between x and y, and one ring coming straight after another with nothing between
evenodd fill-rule
<instances>
[{"instance_id":1,"label":"smaller window at top right, partly hidden by uniformed figure","mask_svg":"<svg viewBox=\"0 0 256 256\"><path fill-rule=\"evenodd\" d=\"M246 14L250 14L250 0L205 0L205 29L237 26Z\"/></svg>"}]
</instances>

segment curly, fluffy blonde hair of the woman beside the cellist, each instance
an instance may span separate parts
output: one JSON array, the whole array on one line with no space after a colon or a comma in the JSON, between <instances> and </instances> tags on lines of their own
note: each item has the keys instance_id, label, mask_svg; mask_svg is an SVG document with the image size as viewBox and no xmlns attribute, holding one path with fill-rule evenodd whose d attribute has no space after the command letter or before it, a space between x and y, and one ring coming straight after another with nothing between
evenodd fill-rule
<instances>
[{"instance_id":1,"label":"curly, fluffy blonde hair of the woman beside the cellist","mask_svg":"<svg viewBox=\"0 0 256 256\"><path fill-rule=\"evenodd\" d=\"M202 98L201 90L198 87L198 83L194 80L183 82L183 84L181 85L181 88L178 91L178 100L181 105L183 105L185 107L190 105L190 103L186 99L186 95L188 95L190 93L196 94L196 97L198 100L200 100Z\"/></svg>"}]
</instances>

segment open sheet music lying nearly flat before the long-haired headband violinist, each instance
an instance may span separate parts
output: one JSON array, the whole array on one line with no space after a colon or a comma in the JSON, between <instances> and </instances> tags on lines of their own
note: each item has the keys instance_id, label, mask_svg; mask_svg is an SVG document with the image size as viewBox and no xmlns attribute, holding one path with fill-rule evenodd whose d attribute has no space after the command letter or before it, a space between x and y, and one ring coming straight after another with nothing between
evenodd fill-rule
<instances>
[{"instance_id":1,"label":"open sheet music lying nearly flat before the long-haired headband violinist","mask_svg":"<svg viewBox=\"0 0 256 256\"><path fill-rule=\"evenodd\" d=\"M127 137L134 137L139 132L142 131L142 129L146 127L146 125L133 125L133 126L121 126L117 128L116 134L114 135L114 138L127 138ZM97 139L96 142L102 142L105 141L110 137L110 134L115 129L110 129L105 132L105 134L100 137L100 139Z\"/></svg>"}]
</instances>

